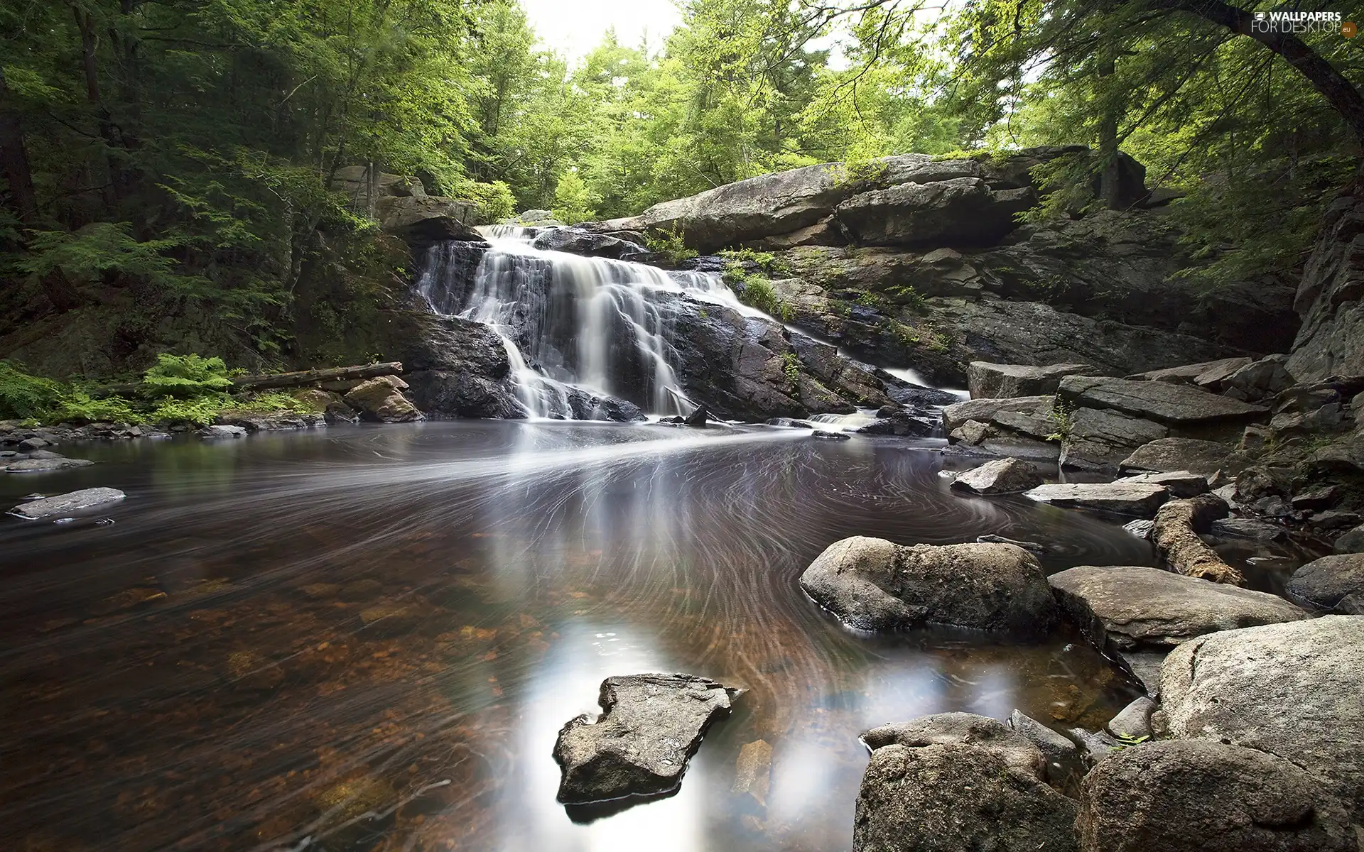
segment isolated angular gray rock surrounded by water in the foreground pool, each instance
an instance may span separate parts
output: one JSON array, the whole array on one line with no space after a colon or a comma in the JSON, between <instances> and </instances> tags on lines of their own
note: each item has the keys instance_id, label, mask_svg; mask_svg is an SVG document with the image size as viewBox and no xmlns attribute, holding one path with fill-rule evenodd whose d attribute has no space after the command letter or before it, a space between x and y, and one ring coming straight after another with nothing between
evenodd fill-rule
<instances>
[{"instance_id":1,"label":"isolated angular gray rock surrounded by water in the foreground pool","mask_svg":"<svg viewBox=\"0 0 1364 852\"><path fill-rule=\"evenodd\" d=\"M713 721L730 714L738 690L696 675L625 675L602 682L602 716L570 720L554 759L558 799L587 804L659 796L682 784L687 761Z\"/></svg>"}]
</instances>

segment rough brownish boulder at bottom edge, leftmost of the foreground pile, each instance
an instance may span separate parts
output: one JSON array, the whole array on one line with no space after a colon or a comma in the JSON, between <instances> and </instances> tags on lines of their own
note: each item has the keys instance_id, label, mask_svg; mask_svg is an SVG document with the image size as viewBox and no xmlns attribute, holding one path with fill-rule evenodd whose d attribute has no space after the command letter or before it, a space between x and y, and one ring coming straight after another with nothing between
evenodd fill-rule
<instances>
[{"instance_id":1,"label":"rough brownish boulder at bottom edge, leftmost of the foreground pile","mask_svg":"<svg viewBox=\"0 0 1364 852\"><path fill-rule=\"evenodd\" d=\"M993 718L941 713L862 735L854 852L1069 852L1075 802L1046 761Z\"/></svg>"}]
</instances>

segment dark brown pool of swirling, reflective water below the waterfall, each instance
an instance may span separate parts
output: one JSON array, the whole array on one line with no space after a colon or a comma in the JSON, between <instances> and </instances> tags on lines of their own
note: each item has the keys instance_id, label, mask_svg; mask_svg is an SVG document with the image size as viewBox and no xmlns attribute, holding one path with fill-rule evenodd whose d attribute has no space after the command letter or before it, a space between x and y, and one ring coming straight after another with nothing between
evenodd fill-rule
<instances>
[{"instance_id":1,"label":"dark brown pool of swirling, reflective water below the waterfall","mask_svg":"<svg viewBox=\"0 0 1364 852\"><path fill-rule=\"evenodd\" d=\"M475 421L85 450L0 480L128 492L112 526L0 526L4 848L839 849L862 731L1097 727L1132 694L1071 635L863 637L805 598L850 534L1151 562L1116 523L951 495L903 440ZM749 691L677 796L574 823L554 737L644 671ZM734 792L760 739L769 792Z\"/></svg>"}]
</instances>

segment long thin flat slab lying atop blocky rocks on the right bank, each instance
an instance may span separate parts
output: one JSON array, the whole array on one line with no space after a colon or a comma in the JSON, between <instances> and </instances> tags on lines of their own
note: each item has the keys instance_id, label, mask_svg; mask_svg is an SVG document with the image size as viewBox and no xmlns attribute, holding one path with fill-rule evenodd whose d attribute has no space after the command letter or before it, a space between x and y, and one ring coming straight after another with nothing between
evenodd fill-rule
<instances>
[{"instance_id":1,"label":"long thin flat slab lying atop blocky rocks on the right bank","mask_svg":"<svg viewBox=\"0 0 1364 852\"><path fill-rule=\"evenodd\" d=\"M1262 405L1168 382L1067 376L1061 379L1057 395L1073 408L1113 409L1166 425L1254 420L1269 414L1269 409Z\"/></svg>"}]
</instances>

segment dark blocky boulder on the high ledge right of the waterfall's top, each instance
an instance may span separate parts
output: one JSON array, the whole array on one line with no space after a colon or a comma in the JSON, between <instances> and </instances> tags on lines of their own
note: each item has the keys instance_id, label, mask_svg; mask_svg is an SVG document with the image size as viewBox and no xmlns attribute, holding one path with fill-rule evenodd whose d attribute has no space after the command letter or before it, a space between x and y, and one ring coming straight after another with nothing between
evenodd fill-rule
<instances>
[{"instance_id":1,"label":"dark blocky boulder on the high ledge right of the waterfall's top","mask_svg":"<svg viewBox=\"0 0 1364 852\"><path fill-rule=\"evenodd\" d=\"M865 245L992 245L1035 202L1028 188L996 191L979 177L951 177L854 195L833 218Z\"/></svg>"}]
</instances>

